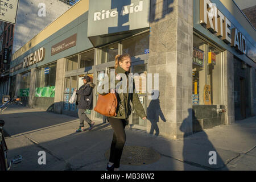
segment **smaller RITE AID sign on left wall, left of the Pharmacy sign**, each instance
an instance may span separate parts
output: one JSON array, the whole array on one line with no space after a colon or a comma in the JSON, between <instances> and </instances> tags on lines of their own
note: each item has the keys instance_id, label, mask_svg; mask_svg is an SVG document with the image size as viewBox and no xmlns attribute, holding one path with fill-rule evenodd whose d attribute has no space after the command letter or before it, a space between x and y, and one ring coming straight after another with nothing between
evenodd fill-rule
<instances>
[{"instance_id":1,"label":"smaller RITE AID sign on left wall, left of the Pharmacy sign","mask_svg":"<svg viewBox=\"0 0 256 182\"><path fill-rule=\"evenodd\" d=\"M43 61L45 55L46 55L46 49L43 47L36 50L34 53L32 52L30 55L24 57L23 68L29 67L33 64Z\"/></svg>"}]
</instances>

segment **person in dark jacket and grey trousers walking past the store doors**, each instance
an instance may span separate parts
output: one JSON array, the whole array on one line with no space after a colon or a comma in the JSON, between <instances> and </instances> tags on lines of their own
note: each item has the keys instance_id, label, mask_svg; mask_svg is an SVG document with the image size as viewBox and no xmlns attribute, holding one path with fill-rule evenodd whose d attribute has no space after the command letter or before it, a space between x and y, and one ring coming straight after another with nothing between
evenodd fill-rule
<instances>
[{"instance_id":1,"label":"person in dark jacket and grey trousers walking past the store doors","mask_svg":"<svg viewBox=\"0 0 256 182\"><path fill-rule=\"evenodd\" d=\"M80 119L80 127L79 129L76 130L76 132L85 131L84 121L86 121L90 126L89 131L93 129L93 126L95 124L85 114L86 109L89 109L89 110L93 109L93 88L95 87L95 84L93 84L90 81L90 77L87 75L84 76L84 78L82 78L82 81L84 82L84 85L82 85L79 88L79 90L75 89L77 94L78 108L79 108L78 115Z\"/></svg>"}]
</instances>

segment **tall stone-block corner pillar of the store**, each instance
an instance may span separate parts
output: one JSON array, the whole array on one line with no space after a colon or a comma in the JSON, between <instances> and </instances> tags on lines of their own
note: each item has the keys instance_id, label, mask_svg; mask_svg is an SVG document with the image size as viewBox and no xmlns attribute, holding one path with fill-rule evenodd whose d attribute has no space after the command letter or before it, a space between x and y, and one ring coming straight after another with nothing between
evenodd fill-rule
<instances>
[{"instance_id":1,"label":"tall stone-block corner pillar of the store","mask_svg":"<svg viewBox=\"0 0 256 182\"><path fill-rule=\"evenodd\" d=\"M147 102L148 113L155 113L147 120L148 133L159 118L163 137L192 134L192 17L193 1L151 1L148 73L159 73L159 98Z\"/></svg>"}]
</instances>

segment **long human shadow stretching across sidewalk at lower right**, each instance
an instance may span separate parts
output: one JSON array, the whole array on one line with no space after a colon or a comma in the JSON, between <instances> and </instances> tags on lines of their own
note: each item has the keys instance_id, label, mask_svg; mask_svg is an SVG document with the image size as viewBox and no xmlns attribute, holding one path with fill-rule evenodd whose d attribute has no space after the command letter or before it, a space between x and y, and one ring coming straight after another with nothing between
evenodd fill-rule
<instances>
[{"instance_id":1,"label":"long human shadow stretching across sidewalk at lower right","mask_svg":"<svg viewBox=\"0 0 256 182\"><path fill-rule=\"evenodd\" d=\"M195 118L193 109L188 109L188 113L188 117L183 120L180 126L180 131L183 132L184 171L189 170L188 165L186 164L210 171L228 170L216 148L208 139L207 134L203 131L199 121ZM194 118L192 120L191 118L193 115ZM197 127L197 131L201 131L197 134L191 135L191 132L195 130L195 127L192 129L193 126ZM200 138L197 139L195 135L200 135ZM200 142L198 140L200 140Z\"/></svg>"}]
</instances>

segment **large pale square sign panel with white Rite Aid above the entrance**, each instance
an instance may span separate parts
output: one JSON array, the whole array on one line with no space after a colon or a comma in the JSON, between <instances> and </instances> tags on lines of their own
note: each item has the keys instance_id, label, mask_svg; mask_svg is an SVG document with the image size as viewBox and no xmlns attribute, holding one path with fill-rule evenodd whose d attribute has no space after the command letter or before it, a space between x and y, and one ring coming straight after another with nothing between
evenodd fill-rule
<instances>
[{"instance_id":1,"label":"large pale square sign panel with white Rite Aid above the entrance","mask_svg":"<svg viewBox=\"0 0 256 182\"><path fill-rule=\"evenodd\" d=\"M150 0L90 0L88 37L149 27Z\"/></svg>"}]
</instances>

